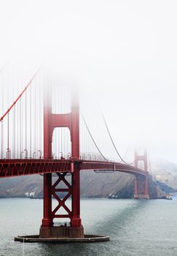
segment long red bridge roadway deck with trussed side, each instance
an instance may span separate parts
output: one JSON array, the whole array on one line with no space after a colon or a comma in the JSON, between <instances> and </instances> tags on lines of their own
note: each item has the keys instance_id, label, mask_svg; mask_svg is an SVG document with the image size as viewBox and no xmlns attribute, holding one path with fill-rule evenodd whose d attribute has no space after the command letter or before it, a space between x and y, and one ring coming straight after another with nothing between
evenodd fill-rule
<instances>
[{"instance_id":1,"label":"long red bridge roadway deck with trussed side","mask_svg":"<svg viewBox=\"0 0 177 256\"><path fill-rule=\"evenodd\" d=\"M146 176L144 170L118 162L80 159L0 159L0 178L42 173L72 173L78 167L80 170L114 170L135 176Z\"/></svg>"}]
</instances>

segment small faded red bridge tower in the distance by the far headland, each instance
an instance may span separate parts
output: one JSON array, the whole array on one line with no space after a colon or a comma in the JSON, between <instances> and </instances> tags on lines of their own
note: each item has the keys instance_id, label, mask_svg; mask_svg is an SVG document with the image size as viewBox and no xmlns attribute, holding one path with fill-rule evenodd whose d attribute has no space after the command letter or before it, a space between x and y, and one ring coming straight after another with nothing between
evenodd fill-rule
<instances>
[{"instance_id":1,"label":"small faded red bridge tower in the distance by the far headland","mask_svg":"<svg viewBox=\"0 0 177 256\"><path fill-rule=\"evenodd\" d=\"M135 151L135 167L138 168L138 162L142 161L144 165L144 170L146 172L145 176L135 175L134 184L134 198L135 199L149 199L149 173L147 166L147 152L145 151L143 155L138 155Z\"/></svg>"}]
</instances>

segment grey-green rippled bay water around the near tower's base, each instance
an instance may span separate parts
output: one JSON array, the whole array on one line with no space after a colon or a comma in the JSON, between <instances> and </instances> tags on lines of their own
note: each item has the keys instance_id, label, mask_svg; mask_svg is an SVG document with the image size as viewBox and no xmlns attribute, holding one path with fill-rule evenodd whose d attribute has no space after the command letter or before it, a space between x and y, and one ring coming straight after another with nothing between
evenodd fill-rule
<instances>
[{"instance_id":1,"label":"grey-green rippled bay water around the near tower's base","mask_svg":"<svg viewBox=\"0 0 177 256\"><path fill-rule=\"evenodd\" d=\"M0 255L177 255L177 197L174 200L82 199L84 233L106 234L93 244L23 244L19 235L39 233L42 200L0 199ZM23 248L24 246L24 248Z\"/></svg>"}]
</instances>

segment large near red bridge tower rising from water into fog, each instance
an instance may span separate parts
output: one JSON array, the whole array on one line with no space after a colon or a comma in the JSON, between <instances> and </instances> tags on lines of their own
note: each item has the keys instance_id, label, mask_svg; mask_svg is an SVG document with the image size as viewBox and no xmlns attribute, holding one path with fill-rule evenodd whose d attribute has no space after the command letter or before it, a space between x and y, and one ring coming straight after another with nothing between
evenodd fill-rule
<instances>
[{"instance_id":1,"label":"large near red bridge tower rising from water into fog","mask_svg":"<svg viewBox=\"0 0 177 256\"><path fill-rule=\"evenodd\" d=\"M52 113L52 89L44 92L44 159L52 159L52 134L56 127L68 127L71 134L71 159L79 159L79 103L76 94L72 94L71 113ZM71 163L71 184L66 180L66 172L57 173L58 179L52 184L52 173L44 174L44 217L40 228L40 238L68 237L83 238L84 228L80 218L80 168ZM60 188L60 181L66 188ZM62 198L60 192L67 194ZM52 209L52 196L58 206ZM66 200L71 197L71 209ZM66 214L58 210L64 210ZM60 213L59 213L60 212ZM53 219L70 219L69 225L54 226Z\"/></svg>"}]
</instances>

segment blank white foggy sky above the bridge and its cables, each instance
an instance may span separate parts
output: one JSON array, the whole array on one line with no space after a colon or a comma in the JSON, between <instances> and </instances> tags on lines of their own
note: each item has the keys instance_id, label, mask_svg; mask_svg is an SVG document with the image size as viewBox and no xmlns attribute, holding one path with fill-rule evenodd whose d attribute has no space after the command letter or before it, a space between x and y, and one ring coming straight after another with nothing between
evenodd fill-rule
<instances>
[{"instance_id":1,"label":"blank white foggy sky above the bridge and its cables","mask_svg":"<svg viewBox=\"0 0 177 256\"><path fill-rule=\"evenodd\" d=\"M102 106L122 154L146 147L177 164L176 8L172 0L0 0L0 68L44 60Z\"/></svg>"}]
</instances>

